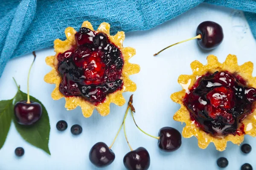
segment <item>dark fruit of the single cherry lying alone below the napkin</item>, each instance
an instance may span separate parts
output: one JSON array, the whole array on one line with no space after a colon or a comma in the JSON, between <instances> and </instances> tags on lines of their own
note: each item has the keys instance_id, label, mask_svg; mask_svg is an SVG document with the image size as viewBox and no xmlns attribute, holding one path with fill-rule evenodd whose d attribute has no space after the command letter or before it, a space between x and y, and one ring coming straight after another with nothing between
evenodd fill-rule
<instances>
[{"instance_id":1,"label":"dark fruit of the single cherry lying alone below the napkin","mask_svg":"<svg viewBox=\"0 0 256 170\"><path fill-rule=\"evenodd\" d=\"M212 21L204 21L199 24L196 34L201 34L202 38L198 39L198 45L205 50L216 48L224 37L221 26Z\"/></svg>"}]
</instances>

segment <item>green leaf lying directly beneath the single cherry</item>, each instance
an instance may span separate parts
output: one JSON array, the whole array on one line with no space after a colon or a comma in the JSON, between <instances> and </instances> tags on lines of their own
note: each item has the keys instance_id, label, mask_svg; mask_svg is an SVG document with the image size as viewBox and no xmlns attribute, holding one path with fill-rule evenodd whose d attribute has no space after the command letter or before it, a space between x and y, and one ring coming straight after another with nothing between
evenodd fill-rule
<instances>
[{"instance_id":1,"label":"green leaf lying directly beneath the single cherry","mask_svg":"<svg viewBox=\"0 0 256 170\"><path fill-rule=\"evenodd\" d=\"M49 134L50 134L50 123L49 123L49 116L44 107L44 105L35 97L30 96L31 101L38 102L42 106L42 116L35 122L33 125L20 125L14 120L15 127L20 135L30 144L44 150L46 153L51 155L48 147L49 143ZM22 100L27 100L27 94L23 93L22 91L18 90L15 98L14 103L17 103Z\"/></svg>"}]
</instances>

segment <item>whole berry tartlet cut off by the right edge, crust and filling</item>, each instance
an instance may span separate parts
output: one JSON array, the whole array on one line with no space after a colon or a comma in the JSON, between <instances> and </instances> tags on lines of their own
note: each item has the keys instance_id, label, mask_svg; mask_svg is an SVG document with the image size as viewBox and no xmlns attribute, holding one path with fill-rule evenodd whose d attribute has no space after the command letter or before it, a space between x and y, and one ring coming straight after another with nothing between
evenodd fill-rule
<instances>
[{"instance_id":1,"label":"whole berry tartlet cut off by the right edge, crust and filling","mask_svg":"<svg viewBox=\"0 0 256 170\"><path fill-rule=\"evenodd\" d=\"M207 65L195 60L192 75L180 75L183 90L171 95L180 104L173 119L185 122L182 135L195 136L198 146L205 149L210 142L219 151L227 142L241 144L244 135L256 136L256 77L253 63L238 65L237 57L229 54L225 62L209 55Z\"/></svg>"}]
</instances>

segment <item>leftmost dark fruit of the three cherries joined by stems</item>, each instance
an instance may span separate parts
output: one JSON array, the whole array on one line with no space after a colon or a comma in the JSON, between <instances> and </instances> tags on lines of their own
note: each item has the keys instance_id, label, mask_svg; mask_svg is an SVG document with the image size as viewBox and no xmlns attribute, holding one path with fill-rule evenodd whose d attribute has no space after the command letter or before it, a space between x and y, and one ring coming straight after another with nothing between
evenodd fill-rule
<instances>
[{"instance_id":1,"label":"leftmost dark fruit of the three cherries joined by stems","mask_svg":"<svg viewBox=\"0 0 256 170\"><path fill-rule=\"evenodd\" d=\"M115 157L115 153L104 142L94 144L89 152L89 159L96 167L108 166Z\"/></svg>"}]
</instances>

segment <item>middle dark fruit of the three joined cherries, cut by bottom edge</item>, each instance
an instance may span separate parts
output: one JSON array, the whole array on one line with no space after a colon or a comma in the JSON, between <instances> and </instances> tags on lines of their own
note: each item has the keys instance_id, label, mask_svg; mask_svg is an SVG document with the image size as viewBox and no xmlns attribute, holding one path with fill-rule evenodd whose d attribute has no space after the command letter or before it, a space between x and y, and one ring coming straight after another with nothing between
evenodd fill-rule
<instances>
[{"instance_id":1,"label":"middle dark fruit of the three joined cherries, cut by bottom edge","mask_svg":"<svg viewBox=\"0 0 256 170\"><path fill-rule=\"evenodd\" d=\"M150 165L150 156L144 147L138 147L128 152L123 161L128 170L147 170Z\"/></svg>"}]
</instances>

